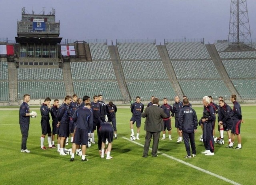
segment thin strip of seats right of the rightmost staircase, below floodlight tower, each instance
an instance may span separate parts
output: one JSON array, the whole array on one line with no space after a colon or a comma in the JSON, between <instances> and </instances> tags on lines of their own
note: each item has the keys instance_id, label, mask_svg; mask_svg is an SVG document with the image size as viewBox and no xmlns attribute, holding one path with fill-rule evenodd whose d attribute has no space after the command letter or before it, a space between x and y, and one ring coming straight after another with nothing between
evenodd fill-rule
<instances>
[{"instance_id":1,"label":"thin strip of seats right of the rightmost staircase, below floodlight tower","mask_svg":"<svg viewBox=\"0 0 256 185\"><path fill-rule=\"evenodd\" d=\"M220 58L256 58L256 52L219 52Z\"/></svg>"}]
</instances>

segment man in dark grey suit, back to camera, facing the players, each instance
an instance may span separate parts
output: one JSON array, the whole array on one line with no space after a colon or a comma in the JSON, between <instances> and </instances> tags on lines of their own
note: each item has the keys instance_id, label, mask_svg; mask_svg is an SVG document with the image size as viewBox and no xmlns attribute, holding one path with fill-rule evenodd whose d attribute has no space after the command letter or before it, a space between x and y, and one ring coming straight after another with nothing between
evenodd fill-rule
<instances>
[{"instance_id":1,"label":"man in dark grey suit, back to camera, facing the players","mask_svg":"<svg viewBox=\"0 0 256 185\"><path fill-rule=\"evenodd\" d=\"M151 138L153 136L153 147L152 147L152 157L157 157L156 154L158 149L158 142L161 131L164 130L163 118L168 116L164 113L164 109L158 107L159 99L154 97L152 100L153 105L151 107L146 107L145 111L142 113L142 117L146 117L144 130L146 130L144 152L142 157L148 157L148 149L150 145Z\"/></svg>"}]
</instances>

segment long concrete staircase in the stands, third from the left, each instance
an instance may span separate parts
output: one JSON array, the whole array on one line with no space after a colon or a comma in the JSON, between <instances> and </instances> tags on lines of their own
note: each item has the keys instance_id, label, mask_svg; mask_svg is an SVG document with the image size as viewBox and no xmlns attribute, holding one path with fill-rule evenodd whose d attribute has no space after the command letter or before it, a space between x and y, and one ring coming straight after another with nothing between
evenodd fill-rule
<instances>
[{"instance_id":1,"label":"long concrete staircase in the stands, third from the left","mask_svg":"<svg viewBox=\"0 0 256 185\"><path fill-rule=\"evenodd\" d=\"M120 62L120 57L118 55L118 50L116 46L108 46L108 51L110 53L111 61L113 64L114 72L116 75L116 79L118 82L118 86L121 90L121 93L125 99L125 101L129 100L129 93L125 84L125 79L124 79L124 73L122 70L121 62Z\"/></svg>"}]
</instances>

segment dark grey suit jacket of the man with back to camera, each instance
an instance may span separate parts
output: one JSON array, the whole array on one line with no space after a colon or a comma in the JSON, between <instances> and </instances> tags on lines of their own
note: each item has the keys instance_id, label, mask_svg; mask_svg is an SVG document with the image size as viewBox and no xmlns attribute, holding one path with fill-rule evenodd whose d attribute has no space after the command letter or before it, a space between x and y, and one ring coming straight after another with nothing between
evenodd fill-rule
<instances>
[{"instance_id":1,"label":"dark grey suit jacket of the man with back to camera","mask_svg":"<svg viewBox=\"0 0 256 185\"><path fill-rule=\"evenodd\" d=\"M168 116L164 113L164 109L157 105L152 105L151 107L146 107L142 113L142 117L146 117L144 130L148 132L160 132L164 130L163 118L167 118Z\"/></svg>"}]
</instances>

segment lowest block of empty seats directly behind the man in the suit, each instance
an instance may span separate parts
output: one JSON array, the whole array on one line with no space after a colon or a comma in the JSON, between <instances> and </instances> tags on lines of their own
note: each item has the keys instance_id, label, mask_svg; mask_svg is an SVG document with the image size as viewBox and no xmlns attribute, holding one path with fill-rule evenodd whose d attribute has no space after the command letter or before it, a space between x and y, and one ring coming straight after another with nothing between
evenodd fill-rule
<instances>
[{"instance_id":1,"label":"lowest block of empty seats directly behind the man in the suit","mask_svg":"<svg viewBox=\"0 0 256 185\"><path fill-rule=\"evenodd\" d=\"M152 95L163 99L173 99L175 92L172 88L172 84L168 80L156 80L156 81L132 81L126 82L130 96L134 99L136 96L140 96L142 99L150 99Z\"/></svg>"}]
</instances>

